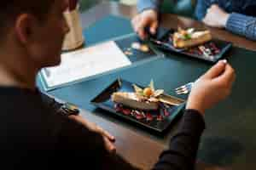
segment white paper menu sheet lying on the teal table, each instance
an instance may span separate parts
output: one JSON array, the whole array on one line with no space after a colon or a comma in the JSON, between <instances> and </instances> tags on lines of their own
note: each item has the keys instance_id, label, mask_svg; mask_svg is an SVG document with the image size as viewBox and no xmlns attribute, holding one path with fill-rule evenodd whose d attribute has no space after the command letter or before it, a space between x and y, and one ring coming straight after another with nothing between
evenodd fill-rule
<instances>
[{"instance_id":1,"label":"white paper menu sheet lying on the teal table","mask_svg":"<svg viewBox=\"0 0 256 170\"><path fill-rule=\"evenodd\" d=\"M61 65L42 69L40 76L47 90L127 65L131 65L131 61L115 42L110 41L61 54Z\"/></svg>"}]
</instances>

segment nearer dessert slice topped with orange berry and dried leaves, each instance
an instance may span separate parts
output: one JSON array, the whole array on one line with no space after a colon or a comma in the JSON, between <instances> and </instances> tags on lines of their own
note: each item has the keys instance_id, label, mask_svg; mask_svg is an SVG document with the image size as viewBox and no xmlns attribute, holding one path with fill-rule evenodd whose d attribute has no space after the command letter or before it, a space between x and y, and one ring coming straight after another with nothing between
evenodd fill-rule
<instances>
[{"instance_id":1,"label":"nearer dessert slice topped with orange berry and dried leaves","mask_svg":"<svg viewBox=\"0 0 256 170\"><path fill-rule=\"evenodd\" d=\"M111 95L114 110L125 116L135 117L142 121L161 122L172 114L172 106L183 104L182 99L177 99L164 94L163 89L154 89L151 80L146 88L132 84L133 91L118 91Z\"/></svg>"}]
</instances>

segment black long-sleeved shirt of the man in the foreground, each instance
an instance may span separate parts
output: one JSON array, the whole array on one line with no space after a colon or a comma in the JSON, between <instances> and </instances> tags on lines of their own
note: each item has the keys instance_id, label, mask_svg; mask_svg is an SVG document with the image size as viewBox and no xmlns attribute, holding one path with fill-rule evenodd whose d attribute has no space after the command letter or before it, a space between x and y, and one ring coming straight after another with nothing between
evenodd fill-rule
<instances>
[{"instance_id":1,"label":"black long-sleeved shirt of the man in the foreground","mask_svg":"<svg viewBox=\"0 0 256 170\"><path fill-rule=\"evenodd\" d=\"M0 96L3 169L137 169L122 157L109 154L102 136L56 114L40 93L2 87ZM185 111L170 149L160 155L154 169L193 169L204 127L197 111Z\"/></svg>"}]
</instances>

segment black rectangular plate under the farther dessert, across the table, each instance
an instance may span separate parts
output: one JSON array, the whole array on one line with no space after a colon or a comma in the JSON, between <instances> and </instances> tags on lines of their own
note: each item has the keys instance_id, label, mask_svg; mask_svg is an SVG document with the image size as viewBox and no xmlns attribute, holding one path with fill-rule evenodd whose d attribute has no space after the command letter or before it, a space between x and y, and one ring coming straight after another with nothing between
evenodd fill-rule
<instances>
[{"instance_id":1,"label":"black rectangular plate under the farther dessert, across the table","mask_svg":"<svg viewBox=\"0 0 256 170\"><path fill-rule=\"evenodd\" d=\"M170 37L170 34L173 34L174 31L175 31L174 29L170 29L169 31L166 31L166 35L160 37L160 39L159 38L155 39L154 37L151 37L149 39L149 41L151 40L151 42L153 42L153 44L154 44L154 46L156 48L160 48L162 50L165 50L165 51L168 51L168 52L172 52L172 53L183 54L183 55L186 55L186 56L189 56L189 57L193 57L193 58L196 58L196 59L203 59L203 60L206 60L206 61L210 61L212 63L216 63L232 47L232 43L231 42L224 42L224 41L221 41L221 40L218 40L218 39L212 39L212 41L207 42L205 44L207 45L207 44L210 44L211 42L213 42L215 44L215 46L219 49L219 53L218 54L213 55L212 58L209 58L209 57L207 57L207 56L205 56L203 54L191 54L186 49L174 48L172 46L172 42L168 41L168 39ZM159 44L154 42L155 40L158 40L160 42L167 42L168 44L170 44L170 47L159 45Z\"/></svg>"}]
</instances>

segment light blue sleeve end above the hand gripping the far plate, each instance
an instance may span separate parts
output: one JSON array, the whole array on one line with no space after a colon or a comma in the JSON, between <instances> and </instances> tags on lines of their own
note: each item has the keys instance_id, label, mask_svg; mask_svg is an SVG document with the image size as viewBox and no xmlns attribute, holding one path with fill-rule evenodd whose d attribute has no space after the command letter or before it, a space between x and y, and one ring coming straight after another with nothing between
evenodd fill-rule
<instances>
[{"instance_id":1,"label":"light blue sleeve end above the hand gripping the far plate","mask_svg":"<svg viewBox=\"0 0 256 170\"><path fill-rule=\"evenodd\" d=\"M153 8L159 10L162 0L138 0L137 1L137 11L138 13L143 12L143 10L148 8Z\"/></svg>"}]
</instances>

